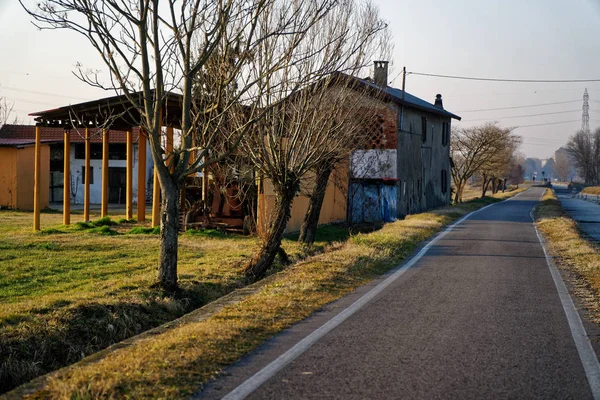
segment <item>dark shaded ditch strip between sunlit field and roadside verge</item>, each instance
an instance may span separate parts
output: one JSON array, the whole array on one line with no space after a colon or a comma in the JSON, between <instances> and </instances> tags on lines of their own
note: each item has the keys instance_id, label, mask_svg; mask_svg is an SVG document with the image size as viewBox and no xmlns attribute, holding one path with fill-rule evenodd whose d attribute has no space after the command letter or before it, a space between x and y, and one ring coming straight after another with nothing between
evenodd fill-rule
<instances>
[{"instance_id":1,"label":"dark shaded ditch strip between sunlit field and roadside verge","mask_svg":"<svg viewBox=\"0 0 600 400\"><path fill-rule=\"evenodd\" d=\"M139 302L61 300L0 320L0 394L172 321L238 287L188 281L171 297L147 291Z\"/></svg>"}]
</instances>

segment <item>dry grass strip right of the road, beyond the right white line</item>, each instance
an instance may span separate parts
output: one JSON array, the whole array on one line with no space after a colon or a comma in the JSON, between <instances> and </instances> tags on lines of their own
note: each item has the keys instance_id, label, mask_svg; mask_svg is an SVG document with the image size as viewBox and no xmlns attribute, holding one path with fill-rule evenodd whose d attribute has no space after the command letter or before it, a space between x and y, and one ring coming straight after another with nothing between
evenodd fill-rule
<instances>
[{"instance_id":1,"label":"dry grass strip right of the road, beyond the right white line","mask_svg":"<svg viewBox=\"0 0 600 400\"><path fill-rule=\"evenodd\" d=\"M573 273L577 295L584 299L592 319L600 323L600 248L586 239L551 190L546 191L534 215L556 265Z\"/></svg>"}]
</instances>

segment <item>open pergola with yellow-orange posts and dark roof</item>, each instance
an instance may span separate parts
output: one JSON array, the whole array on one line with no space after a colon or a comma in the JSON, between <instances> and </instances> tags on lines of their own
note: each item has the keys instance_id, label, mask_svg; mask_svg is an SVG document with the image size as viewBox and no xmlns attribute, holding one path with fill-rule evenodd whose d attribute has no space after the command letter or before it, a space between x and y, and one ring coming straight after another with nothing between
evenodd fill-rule
<instances>
[{"instance_id":1,"label":"open pergola with yellow-orange posts and dark roof","mask_svg":"<svg viewBox=\"0 0 600 400\"><path fill-rule=\"evenodd\" d=\"M135 93L140 98L142 93ZM173 152L173 129L180 127L182 96L168 94L164 100L161 126L166 126L166 155L167 162ZM88 101L74 105L59 107L53 110L34 112L35 117L35 162L34 162L34 222L33 228L40 230L40 143L41 127L64 128L64 182L70 182L70 147L71 130L83 129L85 139L85 176L84 176L84 219L90 219L90 130L100 129L102 132L102 205L101 216L108 216L108 160L110 129L127 132L126 146L126 216L133 218L133 128L139 127L138 136L138 193L137 220L146 219L146 140L147 134L140 126L139 111L129 101L127 96L113 96L99 100ZM71 220L71 186L64 185L63 223L70 224ZM154 189L152 194L152 226L158 226L160 213L160 186L156 168L154 169Z\"/></svg>"}]
</instances>

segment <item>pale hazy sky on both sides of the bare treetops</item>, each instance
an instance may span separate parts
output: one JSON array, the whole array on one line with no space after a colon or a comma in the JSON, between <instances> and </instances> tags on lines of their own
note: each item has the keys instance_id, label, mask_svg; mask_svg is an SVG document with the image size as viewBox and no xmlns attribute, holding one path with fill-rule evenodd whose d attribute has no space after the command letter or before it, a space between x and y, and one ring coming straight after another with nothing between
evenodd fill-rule
<instances>
[{"instance_id":1,"label":"pale hazy sky on both sides of the bare treetops","mask_svg":"<svg viewBox=\"0 0 600 400\"><path fill-rule=\"evenodd\" d=\"M600 0L373 1L392 31L391 86L401 87L405 66L406 91L432 103L442 94L444 108L462 117L453 126L497 121L515 127L522 153L548 158L581 128L587 88L590 128L600 127L600 82L489 82L410 73L600 80ZM31 112L112 95L72 74L77 63L105 70L85 39L38 30L17 0L0 0L0 54L0 97L14 103L23 123L33 122Z\"/></svg>"}]
</instances>

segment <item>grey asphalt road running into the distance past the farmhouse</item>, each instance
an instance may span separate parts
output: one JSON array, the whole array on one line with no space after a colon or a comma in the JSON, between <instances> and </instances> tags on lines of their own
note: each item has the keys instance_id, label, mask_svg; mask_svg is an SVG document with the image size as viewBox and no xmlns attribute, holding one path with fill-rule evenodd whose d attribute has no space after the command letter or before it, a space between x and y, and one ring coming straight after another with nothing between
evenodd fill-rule
<instances>
[{"instance_id":1,"label":"grey asphalt road running into the distance past the farmhouse","mask_svg":"<svg viewBox=\"0 0 600 400\"><path fill-rule=\"evenodd\" d=\"M593 398L529 215L542 190L462 222L248 398ZM226 395L354 299L267 343L198 397Z\"/></svg>"}]
</instances>

